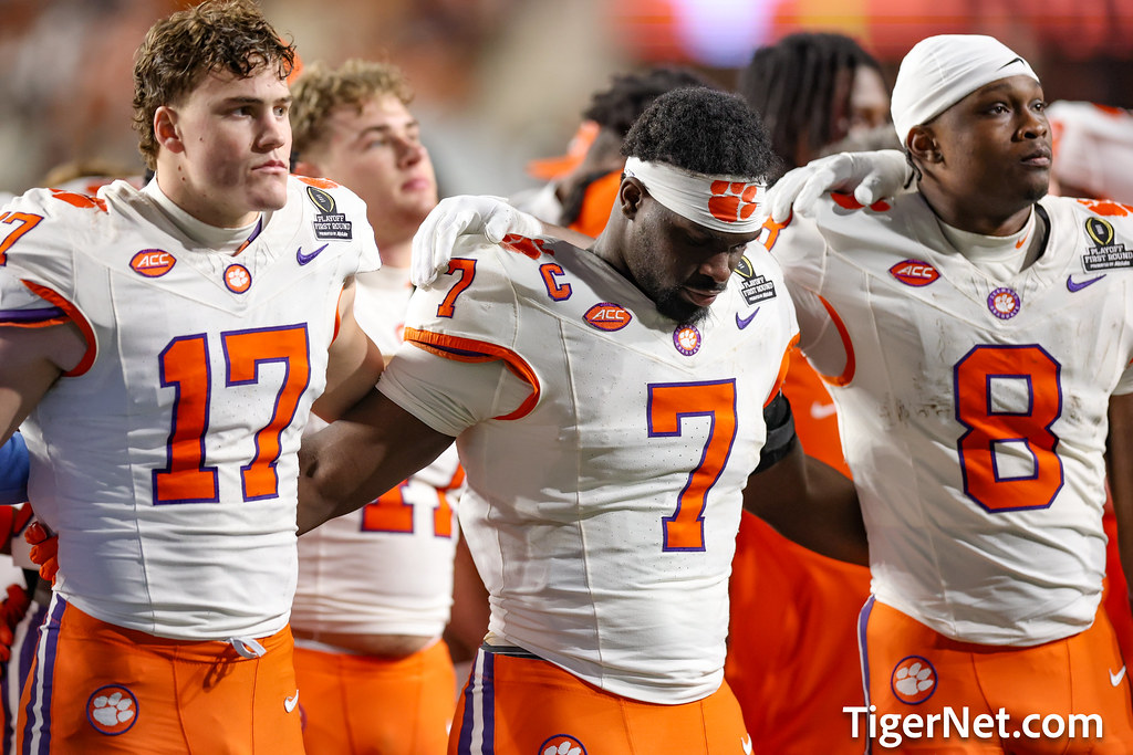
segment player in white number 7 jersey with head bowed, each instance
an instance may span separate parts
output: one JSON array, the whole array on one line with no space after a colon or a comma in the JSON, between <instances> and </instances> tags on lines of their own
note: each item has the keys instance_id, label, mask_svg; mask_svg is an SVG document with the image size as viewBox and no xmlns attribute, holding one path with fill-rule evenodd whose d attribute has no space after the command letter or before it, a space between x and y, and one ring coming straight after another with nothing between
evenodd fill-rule
<instances>
[{"instance_id":1,"label":"player in white number 7 jersey with head bowed","mask_svg":"<svg viewBox=\"0 0 1133 755\"><path fill-rule=\"evenodd\" d=\"M751 243L773 168L758 118L679 89L624 149L593 250L458 240L380 393L304 441L300 529L457 437L492 619L450 753L750 748L723 683L744 496L794 537L864 556L852 486L803 464L778 393L795 324Z\"/></svg>"}]
</instances>

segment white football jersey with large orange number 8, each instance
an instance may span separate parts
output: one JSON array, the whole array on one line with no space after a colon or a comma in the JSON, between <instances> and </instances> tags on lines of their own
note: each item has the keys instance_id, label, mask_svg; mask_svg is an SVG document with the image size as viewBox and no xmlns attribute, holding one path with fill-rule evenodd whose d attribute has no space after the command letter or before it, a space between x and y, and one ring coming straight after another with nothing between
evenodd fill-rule
<instances>
[{"instance_id":1,"label":"white football jersey with large orange number 8","mask_svg":"<svg viewBox=\"0 0 1133 755\"><path fill-rule=\"evenodd\" d=\"M1133 391L1133 220L1040 206L1045 252L1003 281L919 194L827 197L770 239L837 404L874 593L965 642L1072 635L1101 592L1107 407Z\"/></svg>"}]
</instances>

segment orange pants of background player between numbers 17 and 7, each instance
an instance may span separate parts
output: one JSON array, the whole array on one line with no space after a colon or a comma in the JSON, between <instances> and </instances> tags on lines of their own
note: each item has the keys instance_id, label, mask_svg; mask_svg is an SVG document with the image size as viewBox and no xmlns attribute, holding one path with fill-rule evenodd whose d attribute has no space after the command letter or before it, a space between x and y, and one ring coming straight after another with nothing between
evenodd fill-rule
<instances>
[{"instance_id":1,"label":"orange pants of background player between numbers 17 and 7","mask_svg":"<svg viewBox=\"0 0 1133 755\"><path fill-rule=\"evenodd\" d=\"M308 755L444 755L455 709L449 646L412 655L295 650Z\"/></svg>"}]
</instances>

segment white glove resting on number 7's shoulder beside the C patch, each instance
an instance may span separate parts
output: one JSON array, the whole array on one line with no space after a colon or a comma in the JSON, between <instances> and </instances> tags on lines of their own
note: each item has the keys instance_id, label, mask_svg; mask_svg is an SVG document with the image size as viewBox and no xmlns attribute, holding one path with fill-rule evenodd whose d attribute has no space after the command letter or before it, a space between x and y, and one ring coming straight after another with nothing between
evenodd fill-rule
<instances>
[{"instance_id":1,"label":"white glove resting on number 7's shoulder beside the C patch","mask_svg":"<svg viewBox=\"0 0 1133 755\"><path fill-rule=\"evenodd\" d=\"M461 235L478 235L488 243L500 243L509 233L534 237L543 224L519 212L503 197L459 196L442 199L414 235L409 278L427 289L437 275L449 269L452 247Z\"/></svg>"}]
</instances>

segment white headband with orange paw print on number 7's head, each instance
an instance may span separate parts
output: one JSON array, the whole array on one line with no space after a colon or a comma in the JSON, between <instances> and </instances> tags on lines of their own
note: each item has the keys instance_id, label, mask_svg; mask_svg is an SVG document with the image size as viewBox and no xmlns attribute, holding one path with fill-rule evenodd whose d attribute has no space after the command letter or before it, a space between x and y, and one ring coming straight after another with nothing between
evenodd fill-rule
<instances>
[{"instance_id":1,"label":"white headband with orange paw print on number 7's head","mask_svg":"<svg viewBox=\"0 0 1133 755\"><path fill-rule=\"evenodd\" d=\"M693 173L667 163L625 160L625 175L645 185L649 195L681 217L714 231L749 233L763 223L756 213L767 187L749 179Z\"/></svg>"}]
</instances>

